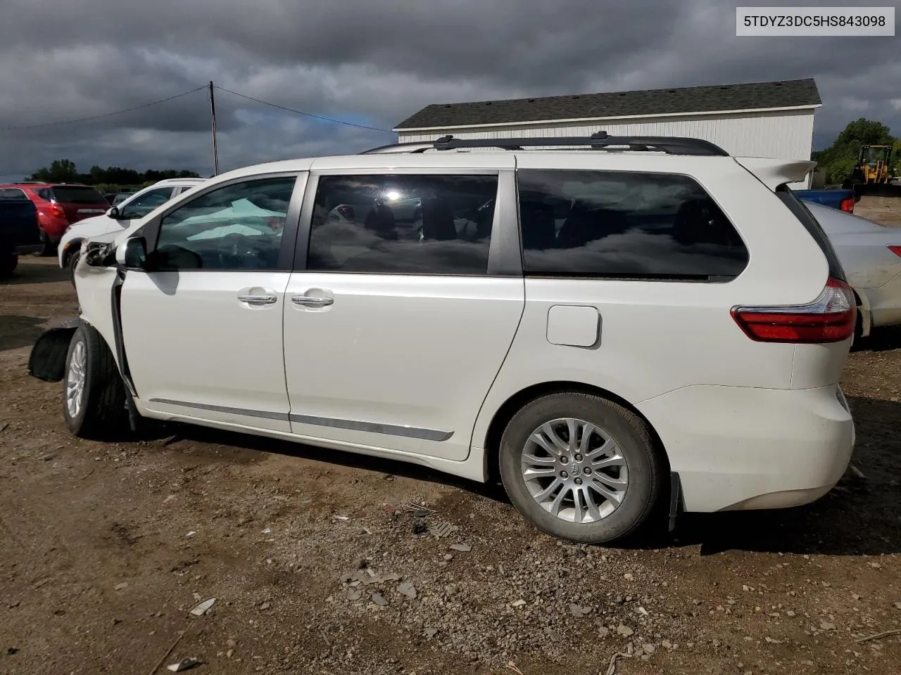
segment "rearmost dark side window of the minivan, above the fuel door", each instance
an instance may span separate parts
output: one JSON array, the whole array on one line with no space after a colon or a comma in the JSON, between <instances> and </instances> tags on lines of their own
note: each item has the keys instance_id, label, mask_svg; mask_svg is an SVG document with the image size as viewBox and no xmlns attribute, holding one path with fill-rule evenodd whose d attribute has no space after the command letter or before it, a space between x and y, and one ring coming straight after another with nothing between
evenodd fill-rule
<instances>
[{"instance_id":1,"label":"rearmost dark side window of the minivan, above the fuel door","mask_svg":"<svg viewBox=\"0 0 901 675\"><path fill-rule=\"evenodd\" d=\"M518 172L523 269L532 276L730 281L748 249L685 175Z\"/></svg>"}]
</instances>

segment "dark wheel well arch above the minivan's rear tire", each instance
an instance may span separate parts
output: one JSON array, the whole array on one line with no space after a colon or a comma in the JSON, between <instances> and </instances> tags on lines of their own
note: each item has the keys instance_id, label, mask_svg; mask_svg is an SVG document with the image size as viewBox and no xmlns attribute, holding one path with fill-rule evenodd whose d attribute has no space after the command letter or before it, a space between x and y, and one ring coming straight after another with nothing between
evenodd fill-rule
<instances>
[{"instance_id":1,"label":"dark wheel well arch above the minivan's rear tire","mask_svg":"<svg viewBox=\"0 0 901 675\"><path fill-rule=\"evenodd\" d=\"M601 387L596 387L586 383L561 381L533 384L531 387L526 387L522 392L514 393L513 396L504 401L504 404L497 409L494 418L491 419L491 423L488 425L488 432L485 439L487 480L489 482L497 482L500 480L498 453L501 446L501 437L504 435L504 429L506 428L507 423L511 419L513 419L516 411L521 409L526 403L533 401L534 399L540 398L542 396L548 396L549 394L565 392L587 393L592 394L593 396L599 396L602 399L613 401L617 405L623 406L623 408L629 410L630 412L633 412L633 414L641 418L648 427L648 431L654 441L654 446L656 446L660 450L660 456L665 463L664 465L666 467L667 473L669 473L669 457L667 455L666 448L663 446L663 442L657 435L657 430L653 428L651 422L646 417L644 417L641 411L635 408L632 403L626 401L621 396L617 396L616 394L614 394L614 392L608 392Z\"/></svg>"}]
</instances>

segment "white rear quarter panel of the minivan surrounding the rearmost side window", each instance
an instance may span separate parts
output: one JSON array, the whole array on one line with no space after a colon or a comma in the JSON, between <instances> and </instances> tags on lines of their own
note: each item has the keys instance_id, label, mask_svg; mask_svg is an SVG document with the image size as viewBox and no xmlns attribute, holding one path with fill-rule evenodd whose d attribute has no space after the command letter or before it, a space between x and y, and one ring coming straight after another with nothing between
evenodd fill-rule
<instances>
[{"instance_id":1,"label":"white rear quarter panel of the minivan surrounding the rearmost side window","mask_svg":"<svg viewBox=\"0 0 901 675\"><path fill-rule=\"evenodd\" d=\"M496 410L533 384L584 383L632 404L693 384L791 387L795 347L747 338L730 311L736 305L810 302L823 291L828 266L795 216L732 157L588 155L583 166L574 166L578 160L563 153L533 153L518 155L517 162L691 175L732 220L750 262L726 284L527 278L523 320L479 416L475 446L484 447ZM547 317L556 304L597 308L596 346L550 344Z\"/></svg>"}]
</instances>

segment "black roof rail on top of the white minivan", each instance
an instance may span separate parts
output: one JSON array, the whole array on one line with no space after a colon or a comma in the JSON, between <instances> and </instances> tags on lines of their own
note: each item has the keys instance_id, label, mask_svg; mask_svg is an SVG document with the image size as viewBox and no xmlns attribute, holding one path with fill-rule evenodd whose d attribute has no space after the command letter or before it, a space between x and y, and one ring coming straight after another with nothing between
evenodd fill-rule
<instances>
[{"instance_id":1,"label":"black roof rail on top of the white minivan","mask_svg":"<svg viewBox=\"0 0 901 675\"><path fill-rule=\"evenodd\" d=\"M728 152L709 140L678 136L610 136L606 131L598 131L591 136L540 136L514 139L455 139L453 136L442 136L440 139L432 141L381 146L360 154L420 153L429 149L454 150L460 148L522 150L530 146L573 146L587 149L628 148L640 152L665 152L669 155L729 156Z\"/></svg>"}]
</instances>

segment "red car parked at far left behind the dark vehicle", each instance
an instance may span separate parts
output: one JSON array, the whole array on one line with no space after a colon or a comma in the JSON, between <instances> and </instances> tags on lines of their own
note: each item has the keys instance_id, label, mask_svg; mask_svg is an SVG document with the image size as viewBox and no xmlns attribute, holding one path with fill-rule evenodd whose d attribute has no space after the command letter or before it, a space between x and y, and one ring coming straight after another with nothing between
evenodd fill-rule
<instances>
[{"instance_id":1,"label":"red car parked at far left behind the dark vehicle","mask_svg":"<svg viewBox=\"0 0 901 675\"><path fill-rule=\"evenodd\" d=\"M18 187L34 202L41 229L42 256L50 256L69 225L109 209L109 204L90 185L78 183L8 183Z\"/></svg>"}]
</instances>

